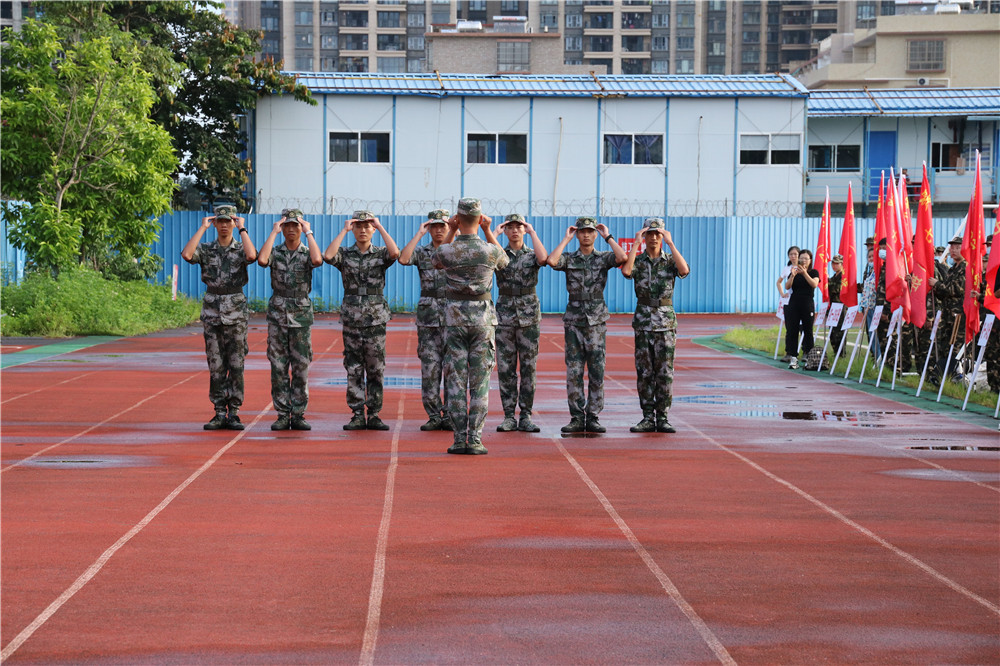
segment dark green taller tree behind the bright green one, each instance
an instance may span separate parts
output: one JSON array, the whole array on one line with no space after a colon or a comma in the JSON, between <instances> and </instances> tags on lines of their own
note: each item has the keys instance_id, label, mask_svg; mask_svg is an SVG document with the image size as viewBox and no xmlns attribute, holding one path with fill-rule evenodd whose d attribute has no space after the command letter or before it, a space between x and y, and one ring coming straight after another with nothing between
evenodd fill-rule
<instances>
[{"instance_id":1,"label":"dark green taller tree behind the bright green one","mask_svg":"<svg viewBox=\"0 0 1000 666\"><path fill-rule=\"evenodd\" d=\"M261 95L289 94L316 104L308 88L281 73L281 62L254 57L263 36L222 16L222 2L206 0L85 3L110 16L114 24L144 45L146 68L154 73L157 101L152 118L173 138L180 156L175 180L183 175L208 199L247 210L244 187L253 164L247 156L244 118ZM72 25L78 3L42 3L49 20ZM182 83L175 85L168 63L176 63ZM163 72L166 72L163 74ZM174 205L185 206L178 191Z\"/></svg>"}]
</instances>

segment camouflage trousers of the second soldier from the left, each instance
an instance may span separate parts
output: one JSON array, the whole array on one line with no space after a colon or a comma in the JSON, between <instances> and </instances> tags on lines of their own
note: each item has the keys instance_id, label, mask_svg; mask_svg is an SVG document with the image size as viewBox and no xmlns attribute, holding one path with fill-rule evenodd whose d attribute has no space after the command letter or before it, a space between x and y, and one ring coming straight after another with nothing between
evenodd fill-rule
<instances>
[{"instance_id":1,"label":"camouflage trousers of the second soldier from the left","mask_svg":"<svg viewBox=\"0 0 1000 666\"><path fill-rule=\"evenodd\" d=\"M309 404L312 327L267 323L267 360L271 362L271 400L279 414L301 416Z\"/></svg>"}]
</instances>

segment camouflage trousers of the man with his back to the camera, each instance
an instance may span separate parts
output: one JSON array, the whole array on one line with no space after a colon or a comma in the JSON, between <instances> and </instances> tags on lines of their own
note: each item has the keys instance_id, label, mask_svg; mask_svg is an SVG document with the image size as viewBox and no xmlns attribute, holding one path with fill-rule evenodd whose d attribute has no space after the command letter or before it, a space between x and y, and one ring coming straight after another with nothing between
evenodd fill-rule
<instances>
[{"instance_id":1,"label":"camouflage trousers of the man with his back to the camera","mask_svg":"<svg viewBox=\"0 0 1000 666\"><path fill-rule=\"evenodd\" d=\"M445 400L455 443L482 442L489 409L490 375L496 365L492 326L449 326L444 353Z\"/></svg>"}]
</instances>

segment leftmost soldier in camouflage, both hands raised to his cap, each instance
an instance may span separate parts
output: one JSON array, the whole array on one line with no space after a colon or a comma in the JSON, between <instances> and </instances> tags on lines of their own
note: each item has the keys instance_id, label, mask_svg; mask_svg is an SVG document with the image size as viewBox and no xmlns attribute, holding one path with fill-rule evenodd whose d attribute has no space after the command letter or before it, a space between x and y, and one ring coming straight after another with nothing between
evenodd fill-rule
<instances>
[{"instance_id":1,"label":"leftmost soldier in camouflage, both hands raised to his cap","mask_svg":"<svg viewBox=\"0 0 1000 666\"><path fill-rule=\"evenodd\" d=\"M247 264L257 260L257 250L244 224L236 208L218 206L215 217L202 218L198 231L181 251L188 263L201 264L201 281L207 287L201 323L208 357L208 398L215 405L215 416L205 424L205 430L243 430L239 412L243 405L243 361L248 351L250 316L243 286L249 281ZM200 243L213 225L218 240ZM239 239L233 237L234 225Z\"/></svg>"}]
</instances>

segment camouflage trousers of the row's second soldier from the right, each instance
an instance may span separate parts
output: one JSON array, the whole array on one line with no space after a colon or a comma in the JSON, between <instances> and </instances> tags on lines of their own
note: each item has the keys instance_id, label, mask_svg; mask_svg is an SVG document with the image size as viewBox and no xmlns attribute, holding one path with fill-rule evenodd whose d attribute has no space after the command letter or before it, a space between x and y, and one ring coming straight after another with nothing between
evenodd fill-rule
<instances>
[{"instance_id":1,"label":"camouflage trousers of the row's second soldier from the right","mask_svg":"<svg viewBox=\"0 0 1000 666\"><path fill-rule=\"evenodd\" d=\"M596 417L604 410L604 346L607 324L564 326L566 399L572 418ZM583 370L587 369L587 394Z\"/></svg>"}]
</instances>

